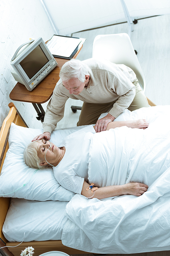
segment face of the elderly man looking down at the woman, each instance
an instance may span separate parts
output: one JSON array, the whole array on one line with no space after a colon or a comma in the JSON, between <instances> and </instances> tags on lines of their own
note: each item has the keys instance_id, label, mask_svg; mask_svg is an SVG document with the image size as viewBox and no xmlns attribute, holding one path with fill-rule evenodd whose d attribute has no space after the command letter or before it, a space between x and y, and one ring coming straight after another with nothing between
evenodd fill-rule
<instances>
[{"instance_id":1,"label":"face of the elderly man looking down at the woman","mask_svg":"<svg viewBox=\"0 0 170 256\"><path fill-rule=\"evenodd\" d=\"M82 83L78 78L70 78L68 81L62 81L63 86L69 90L70 94L79 95L84 87L89 83L89 76L85 76L85 81Z\"/></svg>"}]
</instances>

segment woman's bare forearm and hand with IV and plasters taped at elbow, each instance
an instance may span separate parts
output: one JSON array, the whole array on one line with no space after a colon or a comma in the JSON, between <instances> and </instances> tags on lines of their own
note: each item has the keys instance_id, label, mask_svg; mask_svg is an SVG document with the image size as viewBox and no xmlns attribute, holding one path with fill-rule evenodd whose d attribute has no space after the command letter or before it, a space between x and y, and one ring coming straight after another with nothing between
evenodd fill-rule
<instances>
[{"instance_id":1,"label":"woman's bare forearm and hand with IV and plasters taped at elbow","mask_svg":"<svg viewBox=\"0 0 170 256\"><path fill-rule=\"evenodd\" d=\"M93 194L91 193L91 189L86 190L90 185L84 181L83 188L81 194L85 197L90 198ZM108 197L116 197L120 195L130 194L134 196L141 196L145 191L147 191L148 186L142 183L131 182L125 185L117 185L117 186L107 186L98 188L95 190L95 194L92 198L108 198Z\"/></svg>"}]
</instances>

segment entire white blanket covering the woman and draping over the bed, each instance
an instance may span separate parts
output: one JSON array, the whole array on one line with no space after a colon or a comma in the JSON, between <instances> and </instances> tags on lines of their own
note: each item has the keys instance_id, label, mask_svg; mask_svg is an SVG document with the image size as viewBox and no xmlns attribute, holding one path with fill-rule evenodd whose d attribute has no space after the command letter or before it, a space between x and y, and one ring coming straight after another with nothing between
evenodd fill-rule
<instances>
[{"instance_id":1,"label":"entire white blanket covering the woman and draping over the bed","mask_svg":"<svg viewBox=\"0 0 170 256\"><path fill-rule=\"evenodd\" d=\"M64 245L103 254L170 250L169 113L170 106L126 110L117 121L144 118L149 127L121 127L94 135L90 181L99 186L137 181L149 189L140 197L105 200L75 195L66 207Z\"/></svg>"}]
</instances>

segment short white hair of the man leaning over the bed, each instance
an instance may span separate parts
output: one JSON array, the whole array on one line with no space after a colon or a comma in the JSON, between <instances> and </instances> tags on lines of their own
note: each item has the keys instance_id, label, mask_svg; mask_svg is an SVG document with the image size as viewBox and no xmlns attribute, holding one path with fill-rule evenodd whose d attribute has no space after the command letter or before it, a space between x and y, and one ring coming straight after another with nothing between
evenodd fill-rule
<instances>
[{"instance_id":1,"label":"short white hair of the man leaning over the bed","mask_svg":"<svg viewBox=\"0 0 170 256\"><path fill-rule=\"evenodd\" d=\"M59 76L63 81L78 78L83 83L86 75L90 75L90 68L78 59L70 59L62 66Z\"/></svg>"}]
</instances>

